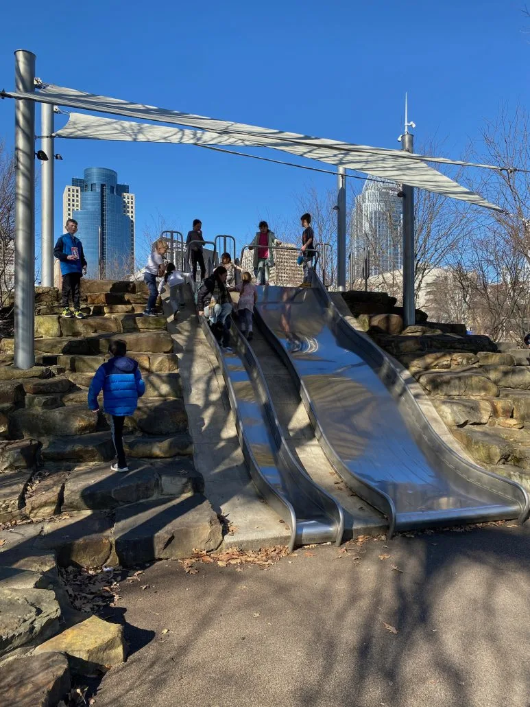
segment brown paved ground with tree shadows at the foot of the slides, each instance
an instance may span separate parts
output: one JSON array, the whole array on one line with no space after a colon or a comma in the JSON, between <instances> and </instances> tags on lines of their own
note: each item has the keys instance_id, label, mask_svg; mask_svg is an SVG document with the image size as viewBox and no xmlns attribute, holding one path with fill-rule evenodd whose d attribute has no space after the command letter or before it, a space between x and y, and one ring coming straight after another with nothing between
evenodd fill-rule
<instances>
[{"instance_id":1,"label":"brown paved ground with tree shadows at the foot of the slides","mask_svg":"<svg viewBox=\"0 0 530 707\"><path fill-rule=\"evenodd\" d=\"M122 584L132 655L95 707L528 707L529 530L157 563Z\"/></svg>"}]
</instances>

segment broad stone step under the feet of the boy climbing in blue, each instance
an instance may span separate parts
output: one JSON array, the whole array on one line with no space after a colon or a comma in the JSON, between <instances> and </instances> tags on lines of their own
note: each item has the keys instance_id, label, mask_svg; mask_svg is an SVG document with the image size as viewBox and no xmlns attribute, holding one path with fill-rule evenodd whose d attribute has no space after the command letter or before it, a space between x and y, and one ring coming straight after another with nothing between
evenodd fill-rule
<instances>
[{"instance_id":1,"label":"broad stone step under the feet of the boy climbing in blue","mask_svg":"<svg viewBox=\"0 0 530 707\"><path fill-rule=\"evenodd\" d=\"M63 513L71 510L109 510L147 498L187 496L204 490L192 460L139 460L125 474L110 464L75 469L64 485Z\"/></svg>"}]
</instances>

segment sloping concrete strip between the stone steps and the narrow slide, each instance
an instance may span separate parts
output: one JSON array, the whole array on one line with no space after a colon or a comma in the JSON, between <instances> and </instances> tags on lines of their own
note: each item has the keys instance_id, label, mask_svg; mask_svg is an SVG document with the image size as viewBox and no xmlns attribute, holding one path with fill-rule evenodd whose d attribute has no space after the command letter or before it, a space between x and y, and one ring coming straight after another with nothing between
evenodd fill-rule
<instances>
[{"instance_id":1,"label":"sloping concrete strip between the stone steps and the narrow slide","mask_svg":"<svg viewBox=\"0 0 530 707\"><path fill-rule=\"evenodd\" d=\"M225 536L224 544L254 549L288 544L289 532L258 496L247 471L223 374L191 298L177 322L170 320L168 330L179 356L195 467L204 477L208 501L232 525L233 532Z\"/></svg>"}]
</instances>

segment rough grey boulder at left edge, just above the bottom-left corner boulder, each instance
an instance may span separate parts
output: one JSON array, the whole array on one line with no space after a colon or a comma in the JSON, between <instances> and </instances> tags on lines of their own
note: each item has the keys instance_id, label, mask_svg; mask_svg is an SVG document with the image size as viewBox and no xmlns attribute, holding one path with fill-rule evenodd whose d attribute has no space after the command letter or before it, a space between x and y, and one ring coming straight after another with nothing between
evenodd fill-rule
<instances>
[{"instance_id":1,"label":"rough grey boulder at left edge, just above the bottom-left corner boulder","mask_svg":"<svg viewBox=\"0 0 530 707\"><path fill-rule=\"evenodd\" d=\"M0 655L49 638L59 629L60 616L54 592L0 588Z\"/></svg>"}]
</instances>

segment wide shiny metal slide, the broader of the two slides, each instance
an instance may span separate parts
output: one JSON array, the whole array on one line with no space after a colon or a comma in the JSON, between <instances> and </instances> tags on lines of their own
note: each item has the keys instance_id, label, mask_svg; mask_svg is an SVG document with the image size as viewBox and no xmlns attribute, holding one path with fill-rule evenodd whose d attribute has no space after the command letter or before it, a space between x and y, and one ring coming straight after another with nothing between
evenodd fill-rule
<instances>
[{"instance_id":1,"label":"wide shiny metal slide, the broader of the two slides","mask_svg":"<svg viewBox=\"0 0 530 707\"><path fill-rule=\"evenodd\" d=\"M399 368L314 288L259 288L255 316L298 382L336 472L394 532L529 515L519 484L468 462L430 426ZM393 397L394 396L394 397Z\"/></svg>"}]
</instances>

